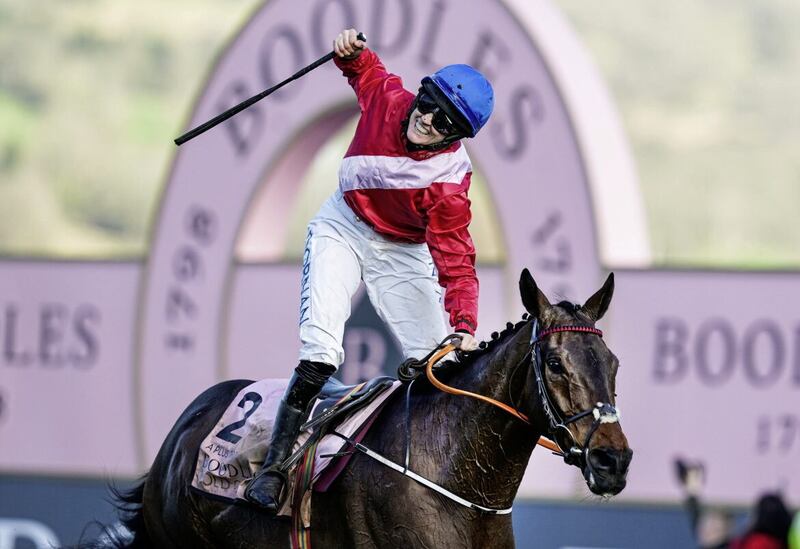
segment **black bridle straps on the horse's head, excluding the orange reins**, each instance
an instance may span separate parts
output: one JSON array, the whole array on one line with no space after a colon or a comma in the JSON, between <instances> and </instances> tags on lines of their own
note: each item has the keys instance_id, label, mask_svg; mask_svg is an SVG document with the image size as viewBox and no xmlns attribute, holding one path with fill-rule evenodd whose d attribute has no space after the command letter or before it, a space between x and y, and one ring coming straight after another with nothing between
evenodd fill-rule
<instances>
[{"instance_id":1,"label":"black bridle straps on the horse's head, excluding the orange reins","mask_svg":"<svg viewBox=\"0 0 800 549\"><path fill-rule=\"evenodd\" d=\"M591 326L555 326L540 332L539 322L535 318L533 319L533 329L531 330L531 342L528 352L531 355L531 365L533 366L533 372L536 376L536 389L539 394L539 400L549 423L549 434L561 449L561 455L564 457L564 461L570 465L576 465L582 468L588 464L589 442L592 440L592 436L594 436L597 428L603 423L618 422L620 416L619 411L610 403L598 402L588 410L578 412L566 419L562 417L558 407L550 398L550 391L547 389L547 383L542 374L540 346L540 342L543 338L558 332L585 332L596 334L600 337L603 337L603 332ZM586 434L586 439L581 444L575 439L568 425L589 415L594 417L594 421L592 422L589 432Z\"/></svg>"}]
</instances>

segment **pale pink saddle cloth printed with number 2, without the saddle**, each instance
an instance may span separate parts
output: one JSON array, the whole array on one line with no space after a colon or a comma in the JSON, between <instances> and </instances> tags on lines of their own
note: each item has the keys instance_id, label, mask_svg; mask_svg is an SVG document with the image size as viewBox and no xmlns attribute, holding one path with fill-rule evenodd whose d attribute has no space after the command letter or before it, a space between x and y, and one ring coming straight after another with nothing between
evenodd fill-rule
<instances>
[{"instance_id":1,"label":"pale pink saddle cloth printed with number 2, without the saddle","mask_svg":"<svg viewBox=\"0 0 800 549\"><path fill-rule=\"evenodd\" d=\"M258 472L267 453L275 412L286 384L285 379L263 379L239 391L200 445L193 488L226 499L244 499L246 483ZM336 431L347 437L355 436L399 385L400 382L395 381L367 406L337 425ZM314 405L311 417L315 416L320 402ZM293 451L308 437L308 432L302 432ZM331 464L333 457L329 455L341 451L345 443L335 435L322 438L314 458L314 481ZM293 475L290 474L289 478ZM290 514L288 504L279 514Z\"/></svg>"}]
</instances>

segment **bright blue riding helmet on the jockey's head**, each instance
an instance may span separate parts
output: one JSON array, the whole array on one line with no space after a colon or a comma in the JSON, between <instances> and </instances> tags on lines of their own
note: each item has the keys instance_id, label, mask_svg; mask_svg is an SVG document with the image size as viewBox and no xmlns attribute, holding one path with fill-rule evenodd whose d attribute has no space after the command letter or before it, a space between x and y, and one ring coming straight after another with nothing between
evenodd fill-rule
<instances>
[{"instance_id":1,"label":"bright blue riding helmet on the jockey's head","mask_svg":"<svg viewBox=\"0 0 800 549\"><path fill-rule=\"evenodd\" d=\"M469 65L447 65L422 79L423 88L430 89L431 84L469 125L466 137L475 137L494 108L494 91L486 77Z\"/></svg>"}]
</instances>

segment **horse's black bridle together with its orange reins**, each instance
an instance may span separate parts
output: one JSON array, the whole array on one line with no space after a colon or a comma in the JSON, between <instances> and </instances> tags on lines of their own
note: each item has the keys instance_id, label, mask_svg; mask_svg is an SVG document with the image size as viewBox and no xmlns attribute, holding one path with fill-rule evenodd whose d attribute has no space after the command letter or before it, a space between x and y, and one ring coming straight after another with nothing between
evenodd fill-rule
<instances>
[{"instance_id":1,"label":"horse's black bridle together with its orange reins","mask_svg":"<svg viewBox=\"0 0 800 549\"><path fill-rule=\"evenodd\" d=\"M539 402L542 406L542 409L544 410L544 413L547 416L548 429L549 429L548 435L553 441L555 441L555 444L553 444L549 440L540 439L539 444L552 450L555 454L562 456L564 458L564 461L569 465L575 465L583 469L585 466L589 464L588 461L589 443L592 440L592 436L594 436L595 432L597 432L597 429L598 427L600 427L601 424L618 422L620 419L619 411L617 410L616 407L614 407L612 404L608 402L598 402L588 410L578 412L577 414L569 416L566 419L563 418L558 407L555 405L553 399L550 397L550 391L548 390L547 382L542 373L540 343L543 338L559 332L583 332L583 333L595 334L600 337L603 337L603 332L592 326L579 326L579 325L554 326L539 331L538 320L536 318L533 318L531 322L532 322L531 340L528 346L528 351L522 357L522 360L520 360L519 364L517 364L517 366L514 367L514 370L516 370L519 366L524 364L525 361L528 360L528 358L530 357L531 366L533 367L534 376L536 378L536 392L539 397ZM528 419L528 417L525 416L525 414L523 414L516 408L509 406L508 404L505 404L503 402L497 401L493 398L484 395L450 387L449 385L445 385L444 383L436 379L436 376L433 373L433 365L442 357L444 357L446 354L455 349L455 346L452 343L450 343L450 341L453 341L454 339L457 338L458 338L457 334L448 336L447 338L444 339L444 341L442 341L439 347L437 347L438 350L434 354L432 354L432 356L426 357L427 359L426 374L431 384L433 384L433 386L436 387L437 389L444 391L446 393L477 398L478 400L482 400L493 406L497 406L498 408L501 408L502 410L508 412L514 417L530 425L531 422ZM569 429L568 425L570 425L571 423L575 423L576 421L583 419L584 417L587 417L589 415L591 415L594 418L594 421L592 421L592 426L589 428L589 432L586 434L583 443L579 443L576 440L575 436L572 434L572 431Z\"/></svg>"}]
</instances>

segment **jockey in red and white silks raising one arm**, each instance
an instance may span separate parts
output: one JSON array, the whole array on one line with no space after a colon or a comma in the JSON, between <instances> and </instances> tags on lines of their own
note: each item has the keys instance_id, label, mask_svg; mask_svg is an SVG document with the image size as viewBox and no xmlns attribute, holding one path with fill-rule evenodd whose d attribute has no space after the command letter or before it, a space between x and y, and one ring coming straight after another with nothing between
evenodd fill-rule
<instances>
[{"instance_id":1,"label":"jockey in red and white silks raising one arm","mask_svg":"<svg viewBox=\"0 0 800 549\"><path fill-rule=\"evenodd\" d=\"M406 358L421 358L448 333L477 348L475 247L468 226L472 165L460 140L489 119L489 82L449 65L403 88L353 29L334 40L337 66L355 90L361 118L339 168L339 188L308 226L300 295L300 364L278 408L269 451L245 497L275 513L280 468L310 403L344 362L342 338L361 281ZM438 275L438 276L437 276Z\"/></svg>"}]
</instances>

